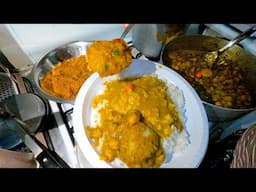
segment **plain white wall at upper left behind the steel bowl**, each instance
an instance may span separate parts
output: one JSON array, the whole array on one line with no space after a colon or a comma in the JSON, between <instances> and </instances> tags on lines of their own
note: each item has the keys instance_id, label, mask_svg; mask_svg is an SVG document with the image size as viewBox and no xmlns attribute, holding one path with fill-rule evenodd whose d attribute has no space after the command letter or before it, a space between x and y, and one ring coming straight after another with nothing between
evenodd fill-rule
<instances>
[{"instance_id":1,"label":"plain white wall at upper left behind the steel bowl","mask_svg":"<svg viewBox=\"0 0 256 192\"><path fill-rule=\"evenodd\" d=\"M20 67L36 63L48 51L67 42L113 39L122 32L122 24L2 24L0 48Z\"/></svg>"}]
</instances>

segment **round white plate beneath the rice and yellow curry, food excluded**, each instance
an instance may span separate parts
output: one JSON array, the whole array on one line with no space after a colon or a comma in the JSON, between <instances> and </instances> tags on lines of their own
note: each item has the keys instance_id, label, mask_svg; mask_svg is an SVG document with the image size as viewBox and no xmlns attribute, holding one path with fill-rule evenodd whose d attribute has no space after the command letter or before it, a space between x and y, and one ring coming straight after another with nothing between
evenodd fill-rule
<instances>
[{"instance_id":1,"label":"round white plate beneath the rice and yellow curry, food excluded","mask_svg":"<svg viewBox=\"0 0 256 192\"><path fill-rule=\"evenodd\" d=\"M85 158L95 168L111 168L105 161L99 160L98 153L87 139L85 126L92 125L91 104L93 98L102 93L105 81L131 76L157 75L159 79L175 85L184 96L185 129L189 134L190 144L179 155L173 155L170 163L161 167L196 168L204 158L208 139L208 120L203 104L190 84L178 73L159 63L134 59L129 68L119 75L100 78L97 73L92 74L81 89L75 100L73 124L74 136Z\"/></svg>"}]
</instances>

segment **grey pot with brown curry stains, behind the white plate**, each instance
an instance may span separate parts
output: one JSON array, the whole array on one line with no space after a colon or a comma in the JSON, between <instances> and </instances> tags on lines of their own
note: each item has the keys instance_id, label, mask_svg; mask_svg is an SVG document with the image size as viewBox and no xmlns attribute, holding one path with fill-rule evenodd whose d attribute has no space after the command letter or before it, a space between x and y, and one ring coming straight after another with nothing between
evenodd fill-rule
<instances>
[{"instance_id":1,"label":"grey pot with brown curry stains, behind the white plate","mask_svg":"<svg viewBox=\"0 0 256 192\"><path fill-rule=\"evenodd\" d=\"M135 24L133 45L146 57L158 60L163 45L183 34L187 27L187 24Z\"/></svg>"}]
</instances>

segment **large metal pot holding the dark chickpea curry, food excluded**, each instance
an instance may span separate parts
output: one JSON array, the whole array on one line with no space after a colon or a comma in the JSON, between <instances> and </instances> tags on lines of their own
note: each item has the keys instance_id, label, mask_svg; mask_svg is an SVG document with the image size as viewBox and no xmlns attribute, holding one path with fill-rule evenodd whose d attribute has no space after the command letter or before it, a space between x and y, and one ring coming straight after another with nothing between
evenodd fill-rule
<instances>
[{"instance_id":1,"label":"large metal pot holding the dark chickpea curry, food excluded","mask_svg":"<svg viewBox=\"0 0 256 192\"><path fill-rule=\"evenodd\" d=\"M188 35L180 36L173 41L165 45L161 52L161 62L164 65L170 67L170 60L168 59L168 53L176 50L200 50L200 51L213 51L223 47L228 41L204 36L204 35ZM238 63L242 70L245 71L248 77L248 85L252 89L253 100L256 99L256 57L238 45L233 46L225 53L225 58ZM213 105L206 101L202 101L207 112L208 119L213 122L229 121L236 119L256 108L248 109L231 109Z\"/></svg>"}]
</instances>

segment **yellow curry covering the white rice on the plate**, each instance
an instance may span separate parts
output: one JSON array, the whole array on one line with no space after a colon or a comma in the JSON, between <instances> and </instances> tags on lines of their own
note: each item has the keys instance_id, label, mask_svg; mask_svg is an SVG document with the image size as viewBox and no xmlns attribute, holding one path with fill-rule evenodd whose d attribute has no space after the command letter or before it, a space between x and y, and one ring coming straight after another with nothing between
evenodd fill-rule
<instances>
[{"instance_id":1,"label":"yellow curry covering the white rice on the plate","mask_svg":"<svg viewBox=\"0 0 256 192\"><path fill-rule=\"evenodd\" d=\"M92 107L100 123L85 128L100 159L119 158L128 167L159 167L165 160L162 141L183 124L167 85L152 76L105 82Z\"/></svg>"}]
</instances>

